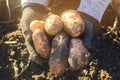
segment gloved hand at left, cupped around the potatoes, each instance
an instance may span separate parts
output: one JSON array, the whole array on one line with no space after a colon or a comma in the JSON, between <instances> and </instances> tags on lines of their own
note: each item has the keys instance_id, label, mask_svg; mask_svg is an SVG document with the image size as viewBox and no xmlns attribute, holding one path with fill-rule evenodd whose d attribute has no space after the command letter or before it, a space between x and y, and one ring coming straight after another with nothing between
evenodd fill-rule
<instances>
[{"instance_id":1,"label":"gloved hand at left, cupped around the potatoes","mask_svg":"<svg viewBox=\"0 0 120 80\"><path fill-rule=\"evenodd\" d=\"M27 6L23 9L22 12L22 19L21 19L21 29L23 36L25 38L26 47L28 49L28 52L30 54L30 59L35 61L37 64L42 65L43 60L42 58L36 53L33 42L32 42L32 32L29 29L30 23L33 20L41 20L43 15L43 12L40 12L35 7Z\"/></svg>"}]
</instances>

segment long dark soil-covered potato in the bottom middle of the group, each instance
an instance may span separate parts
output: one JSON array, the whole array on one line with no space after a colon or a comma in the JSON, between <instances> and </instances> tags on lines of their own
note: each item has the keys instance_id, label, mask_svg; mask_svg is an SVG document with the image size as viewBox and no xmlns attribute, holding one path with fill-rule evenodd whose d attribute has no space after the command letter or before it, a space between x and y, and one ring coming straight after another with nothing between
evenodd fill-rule
<instances>
[{"instance_id":1,"label":"long dark soil-covered potato in the bottom middle of the group","mask_svg":"<svg viewBox=\"0 0 120 80\"><path fill-rule=\"evenodd\" d=\"M55 75L63 74L68 66L68 44L69 37L65 32L56 35L52 41L49 67Z\"/></svg>"}]
</instances>

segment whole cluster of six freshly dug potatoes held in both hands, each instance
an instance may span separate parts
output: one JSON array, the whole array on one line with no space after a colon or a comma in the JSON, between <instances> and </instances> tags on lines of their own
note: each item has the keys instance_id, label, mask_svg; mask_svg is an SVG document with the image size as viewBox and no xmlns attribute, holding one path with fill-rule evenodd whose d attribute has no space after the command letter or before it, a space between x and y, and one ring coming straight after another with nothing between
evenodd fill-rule
<instances>
[{"instance_id":1,"label":"whole cluster of six freshly dug potatoes held in both hands","mask_svg":"<svg viewBox=\"0 0 120 80\"><path fill-rule=\"evenodd\" d=\"M55 75L63 74L67 68L78 70L88 63L89 52L78 38L85 24L79 13L68 10L61 16L51 14L46 21L32 21L30 24L36 52L49 59L50 70ZM53 37L50 43L47 35Z\"/></svg>"}]
</instances>

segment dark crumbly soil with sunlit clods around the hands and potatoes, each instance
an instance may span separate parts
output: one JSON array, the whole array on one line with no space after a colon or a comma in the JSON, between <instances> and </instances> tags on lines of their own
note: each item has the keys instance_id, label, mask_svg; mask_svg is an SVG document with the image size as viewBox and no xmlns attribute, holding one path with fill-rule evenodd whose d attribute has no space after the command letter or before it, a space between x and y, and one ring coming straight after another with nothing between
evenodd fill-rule
<instances>
[{"instance_id":1,"label":"dark crumbly soil with sunlit clods around the hands and potatoes","mask_svg":"<svg viewBox=\"0 0 120 80\"><path fill-rule=\"evenodd\" d=\"M105 23L105 22L104 22ZM27 65L29 53L21 33L19 21L3 25L0 30L0 80L119 80L120 79L120 27L102 26L95 36L91 58L84 68L67 70L61 76L53 75L48 63L34 62L19 77ZM120 26L120 25L119 25ZM112 30L110 33L108 33Z\"/></svg>"}]
</instances>

